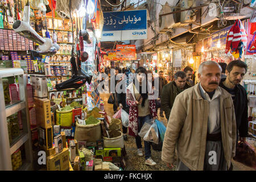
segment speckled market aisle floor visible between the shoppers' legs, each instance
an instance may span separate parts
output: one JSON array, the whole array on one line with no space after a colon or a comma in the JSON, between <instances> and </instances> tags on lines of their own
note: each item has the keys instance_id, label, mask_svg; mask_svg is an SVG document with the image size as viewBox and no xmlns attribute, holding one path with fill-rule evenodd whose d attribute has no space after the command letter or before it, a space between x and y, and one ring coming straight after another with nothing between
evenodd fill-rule
<instances>
[{"instance_id":1,"label":"speckled market aisle floor visible between the shoppers' legs","mask_svg":"<svg viewBox=\"0 0 256 182\"><path fill-rule=\"evenodd\" d=\"M101 94L101 99L104 101L104 104L105 104L106 113L110 117L112 117L112 115L114 114L113 105L108 104L108 98L109 98L109 94ZM158 118L159 118L159 121L162 121L164 125L167 126L167 119L160 117L159 110L158 110ZM129 135L127 135L127 137L128 137L128 141L125 141L125 148L127 152L127 156L125 158L127 171L155 171L155 170L170 171L171 170L166 166L166 163L164 163L161 160L161 151L154 151L152 147L151 147L151 156L152 156L152 159L156 162L156 166L148 166L144 164L145 162L144 156L139 157L137 155L137 146L135 144L135 138ZM143 148L143 154L144 154L143 142L142 142L142 146L143 146L142 148ZM234 160L232 161L232 163L234 166L234 171L256 171L255 169L247 167ZM175 163L174 163L175 167L176 167L176 164L177 164L177 159L175 159Z\"/></svg>"}]
</instances>

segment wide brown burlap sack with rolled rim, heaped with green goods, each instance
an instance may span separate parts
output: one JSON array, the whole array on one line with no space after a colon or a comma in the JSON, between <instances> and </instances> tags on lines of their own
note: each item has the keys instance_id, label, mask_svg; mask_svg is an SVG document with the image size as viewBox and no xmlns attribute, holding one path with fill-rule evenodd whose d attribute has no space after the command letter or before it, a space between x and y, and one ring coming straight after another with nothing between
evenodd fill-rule
<instances>
[{"instance_id":1,"label":"wide brown burlap sack with rolled rim, heaped with green goods","mask_svg":"<svg viewBox=\"0 0 256 182\"><path fill-rule=\"evenodd\" d=\"M77 141L96 142L101 139L101 122L93 125L79 125L76 122L75 139Z\"/></svg>"}]
</instances>

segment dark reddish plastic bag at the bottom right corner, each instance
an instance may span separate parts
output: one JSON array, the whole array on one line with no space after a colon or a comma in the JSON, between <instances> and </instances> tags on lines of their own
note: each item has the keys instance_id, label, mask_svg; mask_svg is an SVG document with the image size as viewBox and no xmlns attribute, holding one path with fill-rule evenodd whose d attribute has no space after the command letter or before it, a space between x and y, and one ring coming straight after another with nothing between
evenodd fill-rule
<instances>
[{"instance_id":1,"label":"dark reddish plastic bag at the bottom right corner","mask_svg":"<svg viewBox=\"0 0 256 182\"><path fill-rule=\"evenodd\" d=\"M256 169L256 154L253 147L247 142L238 142L234 160Z\"/></svg>"}]
</instances>

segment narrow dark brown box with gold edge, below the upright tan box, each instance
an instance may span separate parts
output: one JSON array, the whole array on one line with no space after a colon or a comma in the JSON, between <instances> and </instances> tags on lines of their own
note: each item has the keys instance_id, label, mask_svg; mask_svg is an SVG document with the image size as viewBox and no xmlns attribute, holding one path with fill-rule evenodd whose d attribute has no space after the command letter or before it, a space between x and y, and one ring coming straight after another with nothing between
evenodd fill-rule
<instances>
[{"instance_id":1,"label":"narrow dark brown box with gold edge, below the upright tan box","mask_svg":"<svg viewBox=\"0 0 256 182\"><path fill-rule=\"evenodd\" d=\"M39 127L39 145L46 146L46 149L52 148L52 127Z\"/></svg>"}]
</instances>

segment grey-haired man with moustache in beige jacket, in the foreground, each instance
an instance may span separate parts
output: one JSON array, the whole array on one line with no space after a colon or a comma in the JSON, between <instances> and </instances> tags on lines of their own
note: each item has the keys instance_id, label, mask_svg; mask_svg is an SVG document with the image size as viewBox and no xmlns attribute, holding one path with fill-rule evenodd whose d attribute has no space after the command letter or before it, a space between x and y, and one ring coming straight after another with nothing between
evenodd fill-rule
<instances>
[{"instance_id":1,"label":"grey-haired man with moustache in beige jacket, in the foreground","mask_svg":"<svg viewBox=\"0 0 256 182\"><path fill-rule=\"evenodd\" d=\"M236 151L236 117L231 95L218 86L221 67L200 64L199 84L177 95L168 121L162 160L177 170L228 170Z\"/></svg>"}]
</instances>

